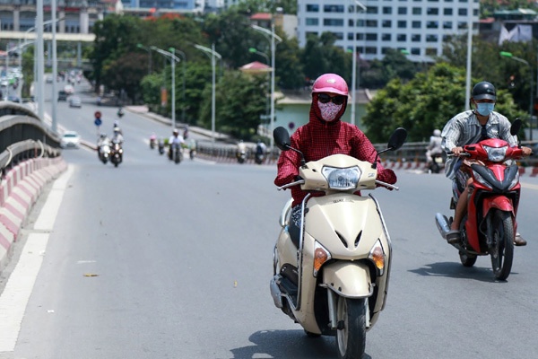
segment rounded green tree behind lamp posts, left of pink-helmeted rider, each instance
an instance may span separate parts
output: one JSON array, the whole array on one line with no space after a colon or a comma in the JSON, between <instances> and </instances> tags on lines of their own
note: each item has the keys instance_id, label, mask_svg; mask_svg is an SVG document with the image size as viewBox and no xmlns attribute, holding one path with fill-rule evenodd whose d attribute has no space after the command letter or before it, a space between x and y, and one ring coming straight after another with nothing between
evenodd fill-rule
<instances>
[{"instance_id":1,"label":"rounded green tree behind lamp posts, left of pink-helmeted rider","mask_svg":"<svg viewBox=\"0 0 538 359\"><path fill-rule=\"evenodd\" d=\"M225 73L216 87L215 127L219 132L242 139L256 134L260 115L265 113L267 81L265 75L248 75L240 71ZM204 127L211 128L211 83L206 86L200 119Z\"/></svg>"}]
</instances>

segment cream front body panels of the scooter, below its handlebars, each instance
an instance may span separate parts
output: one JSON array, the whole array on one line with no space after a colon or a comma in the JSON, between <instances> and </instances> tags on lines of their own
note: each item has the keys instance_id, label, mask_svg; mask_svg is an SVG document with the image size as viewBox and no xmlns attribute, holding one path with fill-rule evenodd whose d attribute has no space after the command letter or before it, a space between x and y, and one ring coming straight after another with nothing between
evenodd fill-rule
<instances>
[{"instance_id":1,"label":"cream front body panels of the scooter, below its handlebars","mask_svg":"<svg viewBox=\"0 0 538 359\"><path fill-rule=\"evenodd\" d=\"M319 285L347 297L375 295L373 305L370 304L370 315L377 319L378 312L385 304L392 247L375 200L337 193L312 197L308 200L307 208L302 251L299 254L299 305L297 310L292 308L295 319L306 330L320 332L314 301ZM385 252L386 267L382 275L372 278L371 269L366 263L377 240ZM314 276L316 241L332 256L321 267L317 277ZM282 230L276 250L278 261L281 264L297 263L297 251L289 233ZM371 267L374 267L373 263ZM374 288L377 290L374 291Z\"/></svg>"}]
</instances>

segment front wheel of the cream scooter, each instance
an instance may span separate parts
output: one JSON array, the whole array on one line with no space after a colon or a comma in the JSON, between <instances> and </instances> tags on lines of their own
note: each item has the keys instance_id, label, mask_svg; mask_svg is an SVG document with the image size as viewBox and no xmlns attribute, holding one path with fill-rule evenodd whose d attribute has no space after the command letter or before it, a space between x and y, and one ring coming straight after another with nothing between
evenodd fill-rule
<instances>
[{"instance_id":1,"label":"front wheel of the cream scooter","mask_svg":"<svg viewBox=\"0 0 538 359\"><path fill-rule=\"evenodd\" d=\"M366 299L339 296L336 320L338 358L361 358L366 349Z\"/></svg>"}]
</instances>

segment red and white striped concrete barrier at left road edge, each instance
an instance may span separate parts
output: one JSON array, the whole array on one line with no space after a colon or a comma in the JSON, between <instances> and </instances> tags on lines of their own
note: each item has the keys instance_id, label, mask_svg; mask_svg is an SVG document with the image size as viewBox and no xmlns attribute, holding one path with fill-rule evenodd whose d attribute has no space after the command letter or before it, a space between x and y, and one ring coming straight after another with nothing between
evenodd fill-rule
<instances>
[{"instance_id":1,"label":"red and white striped concrete barrier at left road edge","mask_svg":"<svg viewBox=\"0 0 538 359\"><path fill-rule=\"evenodd\" d=\"M41 190L66 168L62 157L31 159L13 167L1 179L0 269Z\"/></svg>"}]
</instances>

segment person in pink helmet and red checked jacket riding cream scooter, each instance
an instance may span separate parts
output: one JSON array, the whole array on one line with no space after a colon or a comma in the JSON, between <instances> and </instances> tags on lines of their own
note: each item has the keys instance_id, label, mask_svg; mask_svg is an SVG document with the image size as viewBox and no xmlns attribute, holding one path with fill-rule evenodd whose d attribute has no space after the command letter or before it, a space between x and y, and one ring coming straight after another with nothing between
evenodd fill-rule
<instances>
[{"instance_id":1,"label":"person in pink helmet and red checked jacket riding cream scooter","mask_svg":"<svg viewBox=\"0 0 538 359\"><path fill-rule=\"evenodd\" d=\"M341 120L348 103L348 86L338 74L319 76L312 87L308 124L299 127L291 136L291 147L304 153L307 162L320 160L330 154L343 153L361 161L376 162L377 151L359 127ZM278 173L274 184L283 186L299 175L301 156L295 151L282 152L278 159ZM395 172L383 168L377 158L377 180L389 184L396 182ZM301 202L307 192L299 186L291 187L290 235L298 241L301 218ZM321 196L314 193L312 196Z\"/></svg>"}]
</instances>

